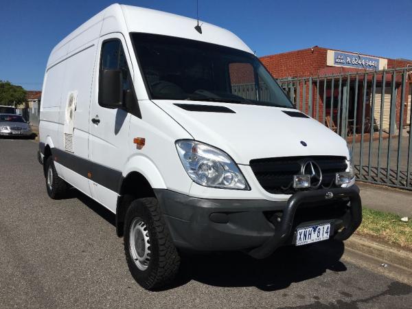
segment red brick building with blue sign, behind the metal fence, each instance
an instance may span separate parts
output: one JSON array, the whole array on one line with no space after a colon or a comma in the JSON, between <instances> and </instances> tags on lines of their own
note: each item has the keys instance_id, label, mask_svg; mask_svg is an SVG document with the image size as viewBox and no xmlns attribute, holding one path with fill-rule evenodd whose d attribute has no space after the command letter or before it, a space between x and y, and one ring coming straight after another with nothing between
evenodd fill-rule
<instances>
[{"instance_id":1,"label":"red brick building with blue sign, behind the metal fence","mask_svg":"<svg viewBox=\"0 0 412 309\"><path fill-rule=\"evenodd\" d=\"M339 100L342 100L344 95L348 95L347 104L348 108L348 118L353 119L356 117L356 126L359 127L359 122L361 121L363 115L363 101L367 105L365 108L365 117L371 117L371 102L374 104L374 124L376 126L382 127L383 130L389 129L390 118L394 117L396 119L396 127L400 126L400 104L401 104L401 90L402 90L402 76L400 73L402 71L396 71L395 76L395 94L396 98L396 115L392 113L391 116L391 100L392 100L392 71L388 71L385 74L385 88L383 85L383 75L381 70L383 69L396 69L396 68L406 68L411 67L407 70L406 83L404 86L404 120L402 126L410 126L411 119L411 94L412 94L412 60L403 59L391 59L382 58L378 56L371 55L361 55L353 52L343 52L340 50L327 49L323 47L314 46L308 49L300 49L293 52L285 52L282 54L275 54L270 56L263 56L260 58L262 63L271 72L274 78L280 80L291 79L295 81L303 81L300 78L312 77L312 86L309 87L308 80L305 80L299 87L294 87L295 93L292 96L295 97L295 101L303 101L303 93L305 93L305 101L308 102L309 96L319 100L319 119L322 121L323 108L326 109L325 115L332 115L331 122L338 122L338 115L343 114L343 111L339 111L337 106ZM373 92L373 79L374 71L376 73L376 91L375 97L372 98L371 93ZM356 74L357 73L357 74ZM366 73L366 88L364 87L364 79ZM334 76L333 86L332 86L332 76ZM339 86L339 77L342 76L343 83L341 87ZM358 89L356 89L356 76L358 78ZM346 80L349 78L349 91L343 89L346 84ZM319 84L318 81L319 80ZM324 82L326 81L326 83ZM305 84L305 91L303 85ZM325 86L326 84L326 86ZM319 85L319 89L317 89ZM299 89L297 89L299 88ZM382 91L382 88L385 90ZM310 94L309 89L312 89ZM332 90L333 89L333 90ZM339 93L341 89L341 93ZM366 92L364 92L366 89ZM332 93L333 91L333 93ZM344 93L344 91L347 93ZM382 100L382 93L384 98ZM365 95L364 95L365 94ZM299 95L299 99L297 96ZM355 98L357 97L357 102L355 104ZM325 102L323 100L325 99ZM373 100L374 99L374 100ZM333 101L332 101L333 100ZM345 99L346 100L346 99ZM380 106L381 100L384 102L382 106L383 115L380 117ZM332 102L332 104L331 104ZM334 102L334 105L333 105ZM355 108L356 106L356 108ZM332 108L332 113L330 113L330 108ZM305 107L306 113L309 112L308 106ZM312 110L312 116L314 116L314 109Z\"/></svg>"}]
</instances>

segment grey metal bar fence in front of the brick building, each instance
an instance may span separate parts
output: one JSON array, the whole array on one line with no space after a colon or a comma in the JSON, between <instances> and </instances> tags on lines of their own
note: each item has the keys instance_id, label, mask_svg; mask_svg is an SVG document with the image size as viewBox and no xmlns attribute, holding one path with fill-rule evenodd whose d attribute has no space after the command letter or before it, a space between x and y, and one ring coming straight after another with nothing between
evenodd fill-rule
<instances>
[{"instance_id":1,"label":"grey metal bar fence in front of the brick building","mask_svg":"<svg viewBox=\"0 0 412 309\"><path fill-rule=\"evenodd\" d=\"M296 107L346 139L356 178L412 190L412 68L277 80Z\"/></svg>"}]
</instances>

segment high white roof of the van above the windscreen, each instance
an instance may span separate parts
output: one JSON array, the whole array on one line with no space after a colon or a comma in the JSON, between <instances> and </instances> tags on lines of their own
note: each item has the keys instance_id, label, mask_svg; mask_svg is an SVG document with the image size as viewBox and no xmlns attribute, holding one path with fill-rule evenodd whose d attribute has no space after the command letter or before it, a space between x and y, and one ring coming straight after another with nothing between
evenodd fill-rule
<instances>
[{"instance_id":1,"label":"high white roof of the van above the windscreen","mask_svg":"<svg viewBox=\"0 0 412 309\"><path fill-rule=\"evenodd\" d=\"M253 54L251 49L229 30L203 21L199 23L202 25L203 34L199 34L194 29L197 25L196 19L115 3L91 17L60 41L52 50L47 67L65 58L67 54L81 51L82 47L90 44L95 38L111 32L122 32L125 36L129 32L144 32L189 38L233 47Z\"/></svg>"}]
</instances>

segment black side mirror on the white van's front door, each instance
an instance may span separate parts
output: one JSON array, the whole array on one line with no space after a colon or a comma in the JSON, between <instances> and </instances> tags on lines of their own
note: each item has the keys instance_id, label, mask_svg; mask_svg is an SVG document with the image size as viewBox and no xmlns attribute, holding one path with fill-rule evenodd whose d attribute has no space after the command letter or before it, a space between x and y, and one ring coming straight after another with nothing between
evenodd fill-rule
<instances>
[{"instance_id":1,"label":"black side mirror on the white van's front door","mask_svg":"<svg viewBox=\"0 0 412 309\"><path fill-rule=\"evenodd\" d=\"M103 70L99 83L99 104L107 108L123 107L123 74L121 70Z\"/></svg>"}]
</instances>

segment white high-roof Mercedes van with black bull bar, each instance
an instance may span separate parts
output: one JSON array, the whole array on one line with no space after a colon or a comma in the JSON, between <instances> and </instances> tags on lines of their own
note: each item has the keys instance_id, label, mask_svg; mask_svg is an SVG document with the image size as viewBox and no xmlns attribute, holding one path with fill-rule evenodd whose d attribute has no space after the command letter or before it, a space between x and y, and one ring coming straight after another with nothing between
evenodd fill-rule
<instances>
[{"instance_id":1,"label":"white high-roof Mercedes van with black bull bar","mask_svg":"<svg viewBox=\"0 0 412 309\"><path fill-rule=\"evenodd\" d=\"M47 192L70 184L112 211L148 289L172 280L184 250L266 258L361 223L345 140L297 111L240 38L196 25L114 4L45 71Z\"/></svg>"}]
</instances>

